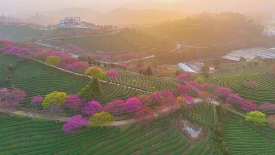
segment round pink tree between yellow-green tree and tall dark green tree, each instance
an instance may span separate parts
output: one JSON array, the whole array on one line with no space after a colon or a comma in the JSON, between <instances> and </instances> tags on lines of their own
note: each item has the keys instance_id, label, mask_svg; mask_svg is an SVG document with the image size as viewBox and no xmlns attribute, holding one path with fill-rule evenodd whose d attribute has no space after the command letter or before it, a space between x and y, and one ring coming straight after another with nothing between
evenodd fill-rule
<instances>
[{"instance_id":1,"label":"round pink tree between yellow-green tree and tall dark green tree","mask_svg":"<svg viewBox=\"0 0 275 155\"><path fill-rule=\"evenodd\" d=\"M84 103L85 103L85 99L76 95L76 94L72 94L69 95L66 98L65 104L64 106L66 108L78 111L80 110L82 107L84 107Z\"/></svg>"}]
</instances>

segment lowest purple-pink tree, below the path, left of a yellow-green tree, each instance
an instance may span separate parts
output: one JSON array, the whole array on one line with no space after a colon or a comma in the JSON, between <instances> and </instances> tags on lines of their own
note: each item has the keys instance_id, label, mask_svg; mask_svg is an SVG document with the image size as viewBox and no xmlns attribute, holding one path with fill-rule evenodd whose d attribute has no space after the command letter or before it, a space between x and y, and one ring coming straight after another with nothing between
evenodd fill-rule
<instances>
[{"instance_id":1,"label":"lowest purple-pink tree, below the path, left of a yellow-green tree","mask_svg":"<svg viewBox=\"0 0 275 155\"><path fill-rule=\"evenodd\" d=\"M89 123L89 120L82 115L75 115L68 119L62 130L66 134L76 133L81 127L89 126Z\"/></svg>"}]
</instances>

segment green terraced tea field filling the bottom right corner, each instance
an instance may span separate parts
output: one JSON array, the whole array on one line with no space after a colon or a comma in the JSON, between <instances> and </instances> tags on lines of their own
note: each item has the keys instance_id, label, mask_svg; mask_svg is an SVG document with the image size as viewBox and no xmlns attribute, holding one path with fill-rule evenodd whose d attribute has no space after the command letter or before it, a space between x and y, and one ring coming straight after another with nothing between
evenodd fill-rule
<instances>
[{"instance_id":1,"label":"green terraced tea field filling the bottom right corner","mask_svg":"<svg viewBox=\"0 0 275 155\"><path fill-rule=\"evenodd\" d=\"M275 132L270 128L260 130L242 118L229 115L224 131L232 154L275 154Z\"/></svg>"}]
</instances>

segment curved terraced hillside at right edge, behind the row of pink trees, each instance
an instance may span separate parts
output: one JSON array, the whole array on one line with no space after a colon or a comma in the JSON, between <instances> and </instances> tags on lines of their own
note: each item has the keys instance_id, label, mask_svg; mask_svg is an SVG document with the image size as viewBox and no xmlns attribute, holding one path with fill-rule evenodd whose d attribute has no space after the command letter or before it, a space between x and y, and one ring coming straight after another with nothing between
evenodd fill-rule
<instances>
[{"instance_id":1,"label":"curved terraced hillside at right edge, behind the row of pink trees","mask_svg":"<svg viewBox=\"0 0 275 155\"><path fill-rule=\"evenodd\" d=\"M207 82L229 87L234 93L257 104L274 102L275 79L265 76L266 71L272 70L272 63L251 66L249 64L250 62L243 62L224 65L224 71L211 75ZM256 81L258 85L250 88L247 86L250 81Z\"/></svg>"}]
</instances>

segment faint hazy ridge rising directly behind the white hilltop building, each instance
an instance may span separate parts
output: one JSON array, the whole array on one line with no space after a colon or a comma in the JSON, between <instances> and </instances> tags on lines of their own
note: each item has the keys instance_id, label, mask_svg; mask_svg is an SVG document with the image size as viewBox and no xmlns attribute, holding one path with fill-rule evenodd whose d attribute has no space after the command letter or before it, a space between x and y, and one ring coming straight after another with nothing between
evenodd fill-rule
<instances>
[{"instance_id":1,"label":"faint hazy ridge rising directly behind the white hilltop building","mask_svg":"<svg viewBox=\"0 0 275 155\"><path fill-rule=\"evenodd\" d=\"M66 8L54 12L42 12L26 21L41 25L58 24L59 20L67 16L80 16L82 21L99 25L155 24L162 21L182 18L180 13L156 9L122 8L101 13L93 9Z\"/></svg>"}]
</instances>

